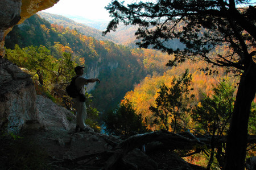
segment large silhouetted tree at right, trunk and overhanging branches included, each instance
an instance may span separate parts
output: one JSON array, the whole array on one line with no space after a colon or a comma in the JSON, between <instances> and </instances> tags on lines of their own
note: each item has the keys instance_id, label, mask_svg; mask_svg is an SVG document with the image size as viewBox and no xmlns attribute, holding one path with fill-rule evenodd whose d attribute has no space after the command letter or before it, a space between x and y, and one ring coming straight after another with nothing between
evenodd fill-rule
<instances>
[{"instance_id":1,"label":"large silhouetted tree at right, trunk and overhanging branches included","mask_svg":"<svg viewBox=\"0 0 256 170\"><path fill-rule=\"evenodd\" d=\"M245 164L248 119L256 92L256 9L250 5L250 0L158 0L127 6L112 1L106 7L114 19L104 34L115 30L120 22L138 25L135 35L141 39L139 47L175 53L169 65L187 59L204 60L214 68L241 73L224 169L244 169ZM170 40L174 39L179 39L184 48L172 48ZM214 52L220 45L229 50Z\"/></svg>"}]
</instances>

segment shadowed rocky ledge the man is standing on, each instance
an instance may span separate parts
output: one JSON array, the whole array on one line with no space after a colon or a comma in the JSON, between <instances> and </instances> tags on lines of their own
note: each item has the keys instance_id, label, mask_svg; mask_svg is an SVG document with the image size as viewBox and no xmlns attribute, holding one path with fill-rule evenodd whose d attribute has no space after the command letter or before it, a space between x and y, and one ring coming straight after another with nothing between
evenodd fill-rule
<instances>
[{"instance_id":1,"label":"shadowed rocky ledge the man is standing on","mask_svg":"<svg viewBox=\"0 0 256 170\"><path fill-rule=\"evenodd\" d=\"M43 126L24 128L21 135L46 151L51 169L203 169L170 151L145 154L129 139L126 142L92 128L75 132L75 115L43 96L37 96L36 106Z\"/></svg>"}]
</instances>

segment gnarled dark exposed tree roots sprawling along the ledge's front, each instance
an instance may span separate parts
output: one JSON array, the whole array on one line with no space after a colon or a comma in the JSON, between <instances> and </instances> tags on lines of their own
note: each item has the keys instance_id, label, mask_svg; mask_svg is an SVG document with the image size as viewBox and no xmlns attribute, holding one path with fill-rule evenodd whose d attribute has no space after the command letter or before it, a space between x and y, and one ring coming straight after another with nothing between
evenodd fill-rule
<instances>
[{"instance_id":1,"label":"gnarled dark exposed tree roots sprawling along the ledge's front","mask_svg":"<svg viewBox=\"0 0 256 170\"><path fill-rule=\"evenodd\" d=\"M64 159L55 161L52 164L66 167L67 164L84 165L91 169L114 169L123 167L127 169L139 169L137 164L123 159L123 157L135 148L146 146L146 153L154 150L196 150L189 155L199 153L210 143L210 138L196 138L190 132L175 134L165 130L149 132L145 134L133 135L119 143L105 138L105 141L112 146L111 150L102 151L94 154L83 155L75 159ZM256 137L251 136L251 143L256 142ZM226 136L219 138L216 144L226 142ZM155 167L156 168L156 167Z\"/></svg>"}]
</instances>

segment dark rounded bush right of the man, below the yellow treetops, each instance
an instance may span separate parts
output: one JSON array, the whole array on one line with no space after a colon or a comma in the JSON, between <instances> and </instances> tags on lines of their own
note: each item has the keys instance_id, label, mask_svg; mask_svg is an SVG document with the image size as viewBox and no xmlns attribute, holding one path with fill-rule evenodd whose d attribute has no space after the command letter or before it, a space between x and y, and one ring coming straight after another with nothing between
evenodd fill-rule
<instances>
[{"instance_id":1,"label":"dark rounded bush right of the man, below the yellow treetops","mask_svg":"<svg viewBox=\"0 0 256 170\"><path fill-rule=\"evenodd\" d=\"M136 114L131 102L122 102L114 111L108 111L104 119L106 131L114 135L133 135L143 133L146 127L143 126L141 114Z\"/></svg>"}]
</instances>

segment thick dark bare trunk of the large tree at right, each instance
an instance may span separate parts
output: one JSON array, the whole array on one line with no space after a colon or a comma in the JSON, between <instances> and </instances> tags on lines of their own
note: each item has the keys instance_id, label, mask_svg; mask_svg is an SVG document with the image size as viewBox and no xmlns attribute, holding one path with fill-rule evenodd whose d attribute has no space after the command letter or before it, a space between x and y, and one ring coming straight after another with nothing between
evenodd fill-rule
<instances>
[{"instance_id":1,"label":"thick dark bare trunk of the large tree at right","mask_svg":"<svg viewBox=\"0 0 256 170\"><path fill-rule=\"evenodd\" d=\"M248 120L256 93L256 64L252 61L241 76L226 143L225 170L245 169Z\"/></svg>"}]
</instances>

